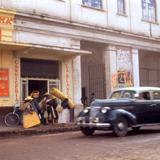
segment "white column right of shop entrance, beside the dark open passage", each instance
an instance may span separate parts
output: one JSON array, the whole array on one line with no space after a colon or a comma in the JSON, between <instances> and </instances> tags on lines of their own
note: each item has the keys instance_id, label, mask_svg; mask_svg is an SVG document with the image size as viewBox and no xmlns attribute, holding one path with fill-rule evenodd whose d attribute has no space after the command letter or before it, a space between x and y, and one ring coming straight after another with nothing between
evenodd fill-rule
<instances>
[{"instance_id":1,"label":"white column right of shop entrance, beside the dark open passage","mask_svg":"<svg viewBox=\"0 0 160 160\"><path fill-rule=\"evenodd\" d=\"M74 117L77 117L79 112L83 109L81 103L81 57L76 56L73 58L73 99L75 103Z\"/></svg>"}]
</instances>

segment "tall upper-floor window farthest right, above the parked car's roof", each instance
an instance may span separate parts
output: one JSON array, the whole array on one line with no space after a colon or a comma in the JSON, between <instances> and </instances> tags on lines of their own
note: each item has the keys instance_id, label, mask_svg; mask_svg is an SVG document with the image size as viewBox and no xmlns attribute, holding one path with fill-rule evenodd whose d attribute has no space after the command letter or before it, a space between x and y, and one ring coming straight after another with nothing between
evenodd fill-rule
<instances>
[{"instance_id":1,"label":"tall upper-floor window farthest right, above the parked car's roof","mask_svg":"<svg viewBox=\"0 0 160 160\"><path fill-rule=\"evenodd\" d=\"M142 0L142 17L147 21L156 21L155 0Z\"/></svg>"}]
</instances>

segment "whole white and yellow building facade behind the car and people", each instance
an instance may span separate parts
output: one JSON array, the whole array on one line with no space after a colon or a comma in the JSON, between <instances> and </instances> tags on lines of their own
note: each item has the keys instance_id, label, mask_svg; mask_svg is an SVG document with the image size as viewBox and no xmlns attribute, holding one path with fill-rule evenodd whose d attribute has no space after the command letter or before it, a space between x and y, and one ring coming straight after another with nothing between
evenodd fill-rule
<instances>
[{"instance_id":1,"label":"whole white and yellow building facade behind the car and people","mask_svg":"<svg viewBox=\"0 0 160 160\"><path fill-rule=\"evenodd\" d=\"M160 0L0 0L0 106L58 87L96 98L160 86Z\"/></svg>"}]
</instances>

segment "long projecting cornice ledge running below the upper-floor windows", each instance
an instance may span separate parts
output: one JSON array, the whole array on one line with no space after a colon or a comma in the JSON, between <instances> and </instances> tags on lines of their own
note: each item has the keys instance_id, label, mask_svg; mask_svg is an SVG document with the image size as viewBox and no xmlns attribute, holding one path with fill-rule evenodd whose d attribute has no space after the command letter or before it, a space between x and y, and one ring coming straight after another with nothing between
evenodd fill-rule
<instances>
[{"instance_id":1,"label":"long projecting cornice ledge running below the upper-floor windows","mask_svg":"<svg viewBox=\"0 0 160 160\"><path fill-rule=\"evenodd\" d=\"M34 19L38 21L45 21L48 23L53 23L55 25L63 25L69 28L78 28L79 30L88 30L88 32L99 32L102 34L117 34L121 35L124 37L130 37L130 38L138 38L141 40L146 40L146 41L156 41L160 42L160 38L156 37L151 37L143 34L138 34L134 32L128 32L125 30L119 30L119 29L114 29L112 27L100 27L100 26L95 26L95 25L90 25L90 24L85 24L85 23L80 23L80 22L74 22L70 21L69 19L60 19L59 17L49 17L48 15L38 15L38 14L33 14L33 13L22 13L22 12L17 12L16 13L17 17L23 17L23 18L29 18L29 19Z\"/></svg>"}]
</instances>

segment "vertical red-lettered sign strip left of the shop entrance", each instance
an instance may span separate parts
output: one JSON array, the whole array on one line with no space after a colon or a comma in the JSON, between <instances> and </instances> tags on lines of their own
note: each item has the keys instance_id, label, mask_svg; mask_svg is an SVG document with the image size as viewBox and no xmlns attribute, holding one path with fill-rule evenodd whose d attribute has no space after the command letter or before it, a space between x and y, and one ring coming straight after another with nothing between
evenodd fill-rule
<instances>
[{"instance_id":1,"label":"vertical red-lettered sign strip left of the shop entrance","mask_svg":"<svg viewBox=\"0 0 160 160\"><path fill-rule=\"evenodd\" d=\"M15 101L19 101L19 77L20 77L20 62L19 59L15 59L14 61L14 73L15 73Z\"/></svg>"}]
</instances>

